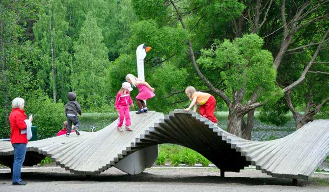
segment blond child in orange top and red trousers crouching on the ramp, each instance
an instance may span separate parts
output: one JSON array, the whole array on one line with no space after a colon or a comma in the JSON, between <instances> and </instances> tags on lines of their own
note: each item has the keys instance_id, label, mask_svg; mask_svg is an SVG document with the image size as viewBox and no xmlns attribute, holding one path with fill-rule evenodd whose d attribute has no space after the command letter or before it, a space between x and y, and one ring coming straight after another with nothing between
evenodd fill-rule
<instances>
[{"instance_id":1,"label":"blond child in orange top and red trousers crouching on the ramp","mask_svg":"<svg viewBox=\"0 0 329 192\"><path fill-rule=\"evenodd\" d=\"M185 89L185 94L192 100L190 106L185 111L189 111L194 106L193 111L196 112L197 104L200 104L200 115L217 124L217 118L214 115L216 108L216 99L214 96L208 93L197 92L192 86Z\"/></svg>"}]
</instances>

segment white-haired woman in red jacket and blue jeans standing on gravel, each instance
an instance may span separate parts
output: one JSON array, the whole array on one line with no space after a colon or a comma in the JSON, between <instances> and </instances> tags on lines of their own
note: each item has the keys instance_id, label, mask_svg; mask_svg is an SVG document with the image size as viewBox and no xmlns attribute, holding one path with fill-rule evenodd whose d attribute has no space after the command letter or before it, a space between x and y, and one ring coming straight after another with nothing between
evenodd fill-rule
<instances>
[{"instance_id":1,"label":"white-haired woman in red jacket and blue jeans standing on gravel","mask_svg":"<svg viewBox=\"0 0 329 192\"><path fill-rule=\"evenodd\" d=\"M25 120L27 115L24 112L25 101L23 98L16 97L11 103L12 111L9 115L10 122L10 142L14 147L14 164L13 164L13 185L26 185L21 179L21 169L27 150L27 134L22 133L27 128ZM29 121L33 118L29 117Z\"/></svg>"}]
</instances>

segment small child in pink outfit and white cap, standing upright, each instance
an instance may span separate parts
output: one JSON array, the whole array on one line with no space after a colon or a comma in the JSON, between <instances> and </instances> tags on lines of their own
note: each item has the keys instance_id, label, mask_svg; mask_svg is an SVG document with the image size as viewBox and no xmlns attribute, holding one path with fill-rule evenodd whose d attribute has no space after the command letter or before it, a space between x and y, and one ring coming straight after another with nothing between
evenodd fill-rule
<instances>
[{"instance_id":1,"label":"small child in pink outfit and white cap, standing upright","mask_svg":"<svg viewBox=\"0 0 329 192\"><path fill-rule=\"evenodd\" d=\"M126 120L126 130L132 131L133 129L129 126L131 125L130 115L129 115L129 104L134 107L132 98L130 97L130 92L133 90L130 83L122 83L122 87L116 95L115 99L115 109L119 112L118 120L118 131L122 130L123 119Z\"/></svg>"}]
</instances>

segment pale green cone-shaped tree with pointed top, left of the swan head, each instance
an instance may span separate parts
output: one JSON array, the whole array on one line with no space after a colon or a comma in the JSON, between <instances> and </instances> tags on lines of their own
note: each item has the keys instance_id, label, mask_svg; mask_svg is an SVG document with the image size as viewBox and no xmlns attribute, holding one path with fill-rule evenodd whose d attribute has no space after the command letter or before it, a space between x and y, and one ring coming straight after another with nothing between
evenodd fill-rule
<instances>
[{"instance_id":1,"label":"pale green cone-shaped tree with pointed top, left of the swan head","mask_svg":"<svg viewBox=\"0 0 329 192\"><path fill-rule=\"evenodd\" d=\"M106 75L110 66L102 30L89 12L79 40L75 43L75 61L70 76L72 89L85 107L101 107L106 102Z\"/></svg>"}]
</instances>

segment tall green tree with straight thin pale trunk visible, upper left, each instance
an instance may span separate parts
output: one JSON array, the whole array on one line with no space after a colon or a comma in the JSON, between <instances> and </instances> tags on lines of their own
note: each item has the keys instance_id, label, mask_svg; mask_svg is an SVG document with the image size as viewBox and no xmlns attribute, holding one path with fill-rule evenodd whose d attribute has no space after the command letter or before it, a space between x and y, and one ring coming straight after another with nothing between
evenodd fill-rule
<instances>
[{"instance_id":1,"label":"tall green tree with straight thin pale trunk visible, upper left","mask_svg":"<svg viewBox=\"0 0 329 192\"><path fill-rule=\"evenodd\" d=\"M41 87L51 90L53 100L66 99L69 86L69 53L71 38L67 36L66 8L60 0L48 0L34 25L35 44L42 50L38 72Z\"/></svg>"}]
</instances>

